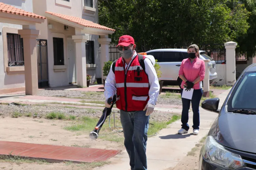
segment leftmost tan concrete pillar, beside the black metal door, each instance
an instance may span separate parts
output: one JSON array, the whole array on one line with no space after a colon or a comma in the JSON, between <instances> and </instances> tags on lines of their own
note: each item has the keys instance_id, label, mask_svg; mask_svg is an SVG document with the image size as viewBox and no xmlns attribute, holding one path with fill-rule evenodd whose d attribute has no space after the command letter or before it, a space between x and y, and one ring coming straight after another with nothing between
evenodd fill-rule
<instances>
[{"instance_id":1,"label":"leftmost tan concrete pillar, beside the black metal door","mask_svg":"<svg viewBox=\"0 0 256 170\"><path fill-rule=\"evenodd\" d=\"M37 95L38 63L36 38L39 35L39 30L35 30L35 26L23 26L22 30L18 30L18 34L23 38L26 95Z\"/></svg>"}]
</instances>

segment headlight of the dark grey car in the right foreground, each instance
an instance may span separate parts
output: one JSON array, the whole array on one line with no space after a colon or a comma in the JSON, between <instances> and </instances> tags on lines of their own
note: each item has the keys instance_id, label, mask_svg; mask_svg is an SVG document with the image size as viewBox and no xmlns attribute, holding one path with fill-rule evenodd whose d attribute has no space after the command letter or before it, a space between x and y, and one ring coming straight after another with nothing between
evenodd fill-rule
<instances>
[{"instance_id":1,"label":"headlight of the dark grey car in the right foreground","mask_svg":"<svg viewBox=\"0 0 256 170\"><path fill-rule=\"evenodd\" d=\"M203 157L221 167L237 169L245 166L240 155L227 151L212 136L208 136L203 149Z\"/></svg>"}]
</instances>

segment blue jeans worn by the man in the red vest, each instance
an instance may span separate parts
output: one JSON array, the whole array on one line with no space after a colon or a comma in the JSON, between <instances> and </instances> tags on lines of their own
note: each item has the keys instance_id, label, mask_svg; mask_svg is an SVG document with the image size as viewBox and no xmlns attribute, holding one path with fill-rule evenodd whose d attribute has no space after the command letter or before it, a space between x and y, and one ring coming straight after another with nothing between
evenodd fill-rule
<instances>
[{"instance_id":1,"label":"blue jeans worn by the man in the red vest","mask_svg":"<svg viewBox=\"0 0 256 170\"><path fill-rule=\"evenodd\" d=\"M131 170L147 170L146 143L150 116L146 111L120 110L125 148L130 157Z\"/></svg>"}]
</instances>

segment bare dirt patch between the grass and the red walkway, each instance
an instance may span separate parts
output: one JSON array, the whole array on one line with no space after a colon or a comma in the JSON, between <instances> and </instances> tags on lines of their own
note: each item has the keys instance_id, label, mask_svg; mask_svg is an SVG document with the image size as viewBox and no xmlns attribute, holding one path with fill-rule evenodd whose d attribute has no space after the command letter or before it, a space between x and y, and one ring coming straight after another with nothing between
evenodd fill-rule
<instances>
[{"instance_id":1,"label":"bare dirt patch between the grass and the red walkway","mask_svg":"<svg viewBox=\"0 0 256 170\"><path fill-rule=\"evenodd\" d=\"M87 148L123 150L116 142L91 140L89 134L70 132L63 127L70 121L33 118L1 118L0 140L63 146L86 146ZM92 129L93 130L93 129Z\"/></svg>"}]
</instances>

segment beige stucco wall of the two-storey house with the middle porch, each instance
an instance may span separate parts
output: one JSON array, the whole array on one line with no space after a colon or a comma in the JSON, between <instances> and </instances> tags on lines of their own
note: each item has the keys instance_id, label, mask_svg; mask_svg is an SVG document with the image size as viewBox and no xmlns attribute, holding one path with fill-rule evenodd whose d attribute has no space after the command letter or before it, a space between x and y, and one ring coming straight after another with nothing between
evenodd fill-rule
<instances>
[{"instance_id":1,"label":"beige stucco wall of the two-storey house with the middle porch","mask_svg":"<svg viewBox=\"0 0 256 170\"><path fill-rule=\"evenodd\" d=\"M96 9L95 13L92 14L90 12L86 12L83 10L84 8L84 0L70 0L70 2L62 1L62 0L46 0L40 1L33 0L33 10L34 13L38 15L45 16L45 11L70 15L75 17L80 17L86 20L90 20L98 23L98 1L94 0L94 8ZM37 3L35 3L37 2ZM48 25L52 25L53 28L49 29ZM69 30L64 30L64 25L53 21L51 19L46 19L43 24L38 24L37 29L40 30L39 38L47 39L47 47L48 47L48 75L49 75L49 86L66 86L69 84L69 69L72 66L69 66L68 62L68 45L67 38L71 38L72 35L75 35L75 29L69 26ZM63 37L64 39L64 62L66 69L61 72L54 69L54 58L53 58L53 37ZM96 68L87 68L87 74L92 76L92 82L95 81L97 77L101 77L101 69L100 69L100 59L98 53L98 35L89 35L89 40L94 41L94 55L95 55L95 64ZM74 53L75 55L75 53ZM71 56L73 57L73 56ZM84 63L86 64L86 63Z\"/></svg>"}]
</instances>

